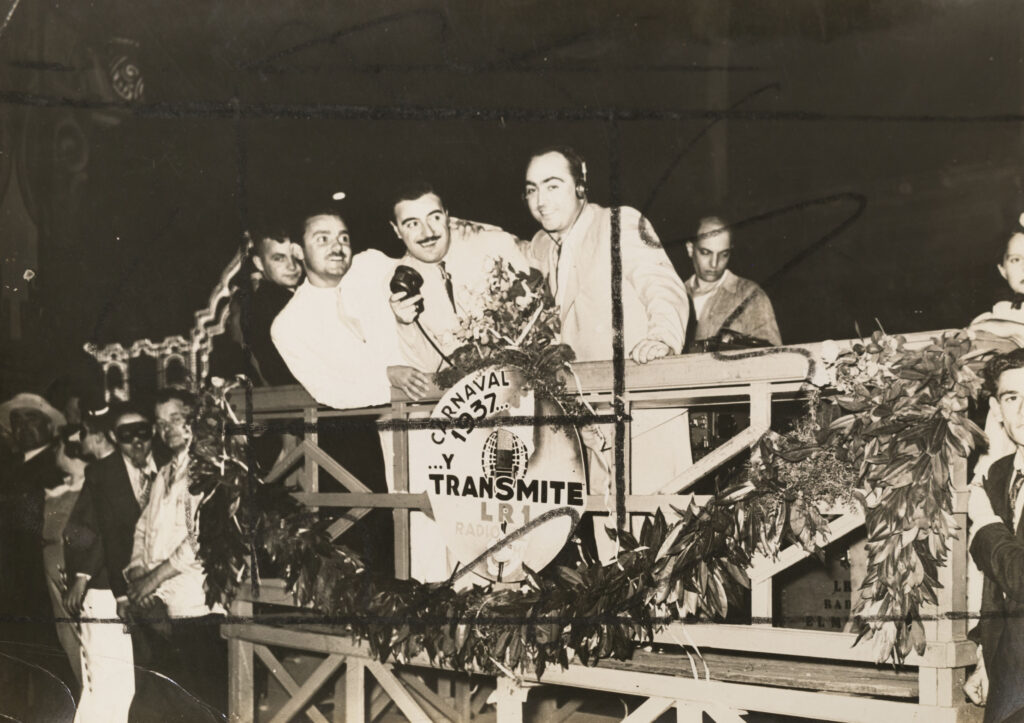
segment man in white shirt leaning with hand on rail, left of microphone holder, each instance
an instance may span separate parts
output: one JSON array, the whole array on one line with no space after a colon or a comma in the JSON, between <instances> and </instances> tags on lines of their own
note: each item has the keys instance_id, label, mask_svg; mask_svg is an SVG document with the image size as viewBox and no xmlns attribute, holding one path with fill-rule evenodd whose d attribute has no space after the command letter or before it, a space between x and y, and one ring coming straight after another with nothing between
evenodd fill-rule
<instances>
[{"instance_id":1,"label":"man in white shirt leaning with hand on rail, left of microphone holder","mask_svg":"<svg viewBox=\"0 0 1024 723\"><path fill-rule=\"evenodd\" d=\"M376 250L353 257L348 226L333 210L307 214L299 230L306 280L270 327L292 374L316 401L335 409L389 405L392 386L414 399L423 396L430 380L402 365L388 305L394 259ZM386 493L393 487L391 432L378 436L377 416L321 428L319 445L371 491ZM341 490L327 474L319 481L322 491ZM368 567L387 571L392 520L390 510L375 510L340 541Z\"/></svg>"}]
</instances>

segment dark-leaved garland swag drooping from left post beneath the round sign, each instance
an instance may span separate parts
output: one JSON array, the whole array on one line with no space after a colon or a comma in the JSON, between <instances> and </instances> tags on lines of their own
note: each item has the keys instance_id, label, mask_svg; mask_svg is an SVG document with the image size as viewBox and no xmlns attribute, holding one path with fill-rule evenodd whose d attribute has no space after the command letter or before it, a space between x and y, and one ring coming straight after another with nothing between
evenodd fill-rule
<instances>
[{"instance_id":1,"label":"dark-leaved garland swag drooping from left post beneath the round sign","mask_svg":"<svg viewBox=\"0 0 1024 723\"><path fill-rule=\"evenodd\" d=\"M200 558L207 599L229 604L240 586L272 567L296 602L365 640L381 661L426 652L459 670L538 675L572 660L593 665L627 658L655 628L693 610L724 616L750 559L732 502L678 510L669 524L657 512L639 539L617 533L612 564L592 559L530 572L518 588L422 584L375 575L332 543L329 520L290 496L285 482L248 470L246 439L228 394L243 382L211 385L194 421L194 492L214 491L200 516ZM250 547L251 545L251 547ZM253 553L253 554L250 554Z\"/></svg>"}]
</instances>

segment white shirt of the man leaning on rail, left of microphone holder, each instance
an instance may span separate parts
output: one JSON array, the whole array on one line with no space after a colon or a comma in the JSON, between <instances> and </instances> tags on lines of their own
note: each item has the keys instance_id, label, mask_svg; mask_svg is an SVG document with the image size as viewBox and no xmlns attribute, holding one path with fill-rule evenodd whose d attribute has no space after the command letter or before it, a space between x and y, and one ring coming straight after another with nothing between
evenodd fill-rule
<instances>
[{"instance_id":1,"label":"white shirt of the man leaning on rail, left of microphone holder","mask_svg":"<svg viewBox=\"0 0 1024 723\"><path fill-rule=\"evenodd\" d=\"M306 279L270 327L292 375L316 401L335 409L391 401L389 366L401 364L388 285L395 260L355 255L336 288Z\"/></svg>"}]
</instances>

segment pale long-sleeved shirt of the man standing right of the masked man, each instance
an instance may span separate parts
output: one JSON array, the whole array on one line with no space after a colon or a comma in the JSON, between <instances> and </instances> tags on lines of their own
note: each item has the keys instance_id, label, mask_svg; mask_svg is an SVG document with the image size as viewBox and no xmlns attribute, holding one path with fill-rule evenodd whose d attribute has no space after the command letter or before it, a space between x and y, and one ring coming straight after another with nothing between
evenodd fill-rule
<instances>
[{"instance_id":1,"label":"pale long-sleeved shirt of the man standing right of the masked man","mask_svg":"<svg viewBox=\"0 0 1024 723\"><path fill-rule=\"evenodd\" d=\"M199 503L188 492L188 450L164 465L150 491L150 501L135 525L131 562L146 572L165 560L178 571L157 588L156 595L175 618L222 612L206 604L206 575L199 561Z\"/></svg>"}]
</instances>

